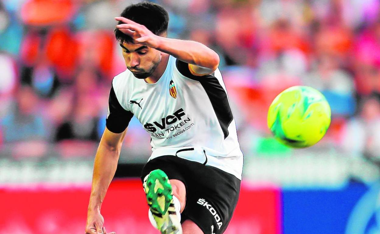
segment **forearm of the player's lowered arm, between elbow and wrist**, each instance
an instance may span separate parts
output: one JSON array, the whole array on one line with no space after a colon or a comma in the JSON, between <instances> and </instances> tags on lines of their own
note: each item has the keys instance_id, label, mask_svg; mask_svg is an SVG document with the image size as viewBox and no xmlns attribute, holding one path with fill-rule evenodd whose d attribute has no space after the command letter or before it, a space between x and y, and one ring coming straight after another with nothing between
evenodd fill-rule
<instances>
[{"instance_id":1,"label":"forearm of the player's lowered arm, between elbow and wrist","mask_svg":"<svg viewBox=\"0 0 380 234\"><path fill-rule=\"evenodd\" d=\"M100 210L101 203L115 175L120 148L110 148L102 142L95 156L89 210Z\"/></svg>"}]
</instances>

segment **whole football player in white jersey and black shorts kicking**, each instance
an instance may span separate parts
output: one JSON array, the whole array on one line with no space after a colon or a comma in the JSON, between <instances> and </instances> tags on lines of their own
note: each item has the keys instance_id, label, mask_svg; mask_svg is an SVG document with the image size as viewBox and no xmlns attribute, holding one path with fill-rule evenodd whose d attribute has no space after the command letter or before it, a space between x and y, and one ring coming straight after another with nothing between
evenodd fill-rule
<instances>
[{"instance_id":1,"label":"whole football player in white jersey and black shorts kicking","mask_svg":"<svg viewBox=\"0 0 380 234\"><path fill-rule=\"evenodd\" d=\"M130 5L115 19L127 70L112 80L86 233L106 233L100 207L135 115L151 136L141 179L152 224L161 234L221 234L239 197L243 155L219 57L201 43L166 38L168 13L157 4Z\"/></svg>"}]
</instances>

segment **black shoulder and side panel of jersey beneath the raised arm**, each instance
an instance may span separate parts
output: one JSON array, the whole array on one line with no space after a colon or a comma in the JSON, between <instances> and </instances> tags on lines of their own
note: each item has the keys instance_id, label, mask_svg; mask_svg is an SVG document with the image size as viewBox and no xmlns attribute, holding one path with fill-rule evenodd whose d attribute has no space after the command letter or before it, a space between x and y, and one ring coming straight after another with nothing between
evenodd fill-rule
<instances>
[{"instance_id":1,"label":"black shoulder and side panel of jersey beneath the raised arm","mask_svg":"<svg viewBox=\"0 0 380 234\"><path fill-rule=\"evenodd\" d=\"M204 91L206 91L206 94L210 99L212 108L214 108L215 115L218 118L220 127L222 128L224 138L228 137L228 126L230 126L233 120L233 115L230 103L228 102L227 93L223 89L222 85L220 85L218 79L214 76L214 73L203 76L193 75L188 69L188 63L178 59L176 61L176 67L185 77L201 83Z\"/></svg>"}]
</instances>

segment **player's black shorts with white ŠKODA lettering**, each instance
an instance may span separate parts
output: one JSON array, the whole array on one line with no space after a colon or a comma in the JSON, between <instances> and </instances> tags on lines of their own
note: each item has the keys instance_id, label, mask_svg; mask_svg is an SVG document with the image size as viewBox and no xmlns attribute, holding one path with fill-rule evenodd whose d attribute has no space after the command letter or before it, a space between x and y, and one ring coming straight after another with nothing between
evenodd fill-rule
<instances>
[{"instance_id":1,"label":"player's black shorts with white \u0160KODA lettering","mask_svg":"<svg viewBox=\"0 0 380 234\"><path fill-rule=\"evenodd\" d=\"M218 168L168 155L147 162L141 180L155 169L185 184L186 205L181 223L190 219L205 234L222 234L226 230L239 199L239 179Z\"/></svg>"}]
</instances>

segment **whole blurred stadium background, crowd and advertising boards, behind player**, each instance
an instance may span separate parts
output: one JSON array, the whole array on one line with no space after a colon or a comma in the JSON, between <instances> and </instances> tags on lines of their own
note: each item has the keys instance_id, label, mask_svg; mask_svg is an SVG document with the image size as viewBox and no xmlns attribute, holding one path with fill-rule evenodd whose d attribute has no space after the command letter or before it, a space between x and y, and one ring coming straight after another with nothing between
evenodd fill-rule
<instances>
[{"instance_id":1,"label":"whole blurred stadium background, crowd and advertising boards, behind player","mask_svg":"<svg viewBox=\"0 0 380 234\"><path fill-rule=\"evenodd\" d=\"M125 69L113 17L130 2L0 2L0 234L83 232L111 80ZM221 57L245 154L226 233L379 234L380 2L156 2L169 37ZM280 145L266 127L272 99L293 85L317 88L332 109L308 149ZM149 155L133 119L102 208L108 231L156 233L133 178Z\"/></svg>"}]
</instances>

